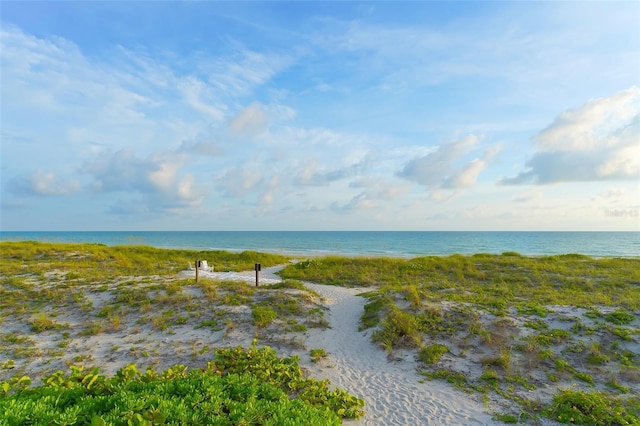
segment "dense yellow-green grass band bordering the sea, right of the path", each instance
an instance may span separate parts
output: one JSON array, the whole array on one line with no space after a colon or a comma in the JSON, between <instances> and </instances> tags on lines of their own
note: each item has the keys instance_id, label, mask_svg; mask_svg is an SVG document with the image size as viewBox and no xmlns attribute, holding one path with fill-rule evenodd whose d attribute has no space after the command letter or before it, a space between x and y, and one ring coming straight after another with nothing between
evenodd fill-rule
<instances>
[{"instance_id":1,"label":"dense yellow-green grass band bordering the sea, right of the path","mask_svg":"<svg viewBox=\"0 0 640 426\"><path fill-rule=\"evenodd\" d=\"M426 256L414 259L311 259L285 268L284 278L344 286L380 286L429 301L519 308L544 317L544 305L640 308L640 259L582 255ZM535 303L533 303L535 301ZM413 303L413 302L412 302Z\"/></svg>"}]
</instances>

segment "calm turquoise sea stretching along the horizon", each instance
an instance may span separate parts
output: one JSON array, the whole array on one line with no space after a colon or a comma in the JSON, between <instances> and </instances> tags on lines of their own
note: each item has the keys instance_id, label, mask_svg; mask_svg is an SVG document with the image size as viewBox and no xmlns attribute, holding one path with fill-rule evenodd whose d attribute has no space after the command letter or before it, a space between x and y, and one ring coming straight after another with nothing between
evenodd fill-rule
<instances>
[{"instance_id":1,"label":"calm turquoise sea stretching along the horizon","mask_svg":"<svg viewBox=\"0 0 640 426\"><path fill-rule=\"evenodd\" d=\"M2 241L89 242L196 250L256 250L320 256L415 257L454 253L525 255L581 253L640 256L640 232L393 232L393 231L202 231L202 232L1 232Z\"/></svg>"}]
</instances>

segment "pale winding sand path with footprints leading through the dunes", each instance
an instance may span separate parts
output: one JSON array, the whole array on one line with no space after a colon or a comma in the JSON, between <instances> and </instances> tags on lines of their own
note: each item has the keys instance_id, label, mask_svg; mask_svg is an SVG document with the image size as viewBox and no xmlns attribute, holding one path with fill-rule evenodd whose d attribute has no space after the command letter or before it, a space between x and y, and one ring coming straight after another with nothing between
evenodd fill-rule
<instances>
[{"instance_id":1,"label":"pale winding sand path with footprints leading through the dunes","mask_svg":"<svg viewBox=\"0 0 640 426\"><path fill-rule=\"evenodd\" d=\"M330 309L330 329L310 336L307 346L324 348L331 367L314 372L365 400L366 416L349 425L487 425L495 424L472 396L439 382L420 383L411 356L389 361L358 331L363 289L305 283ZM314 375L315 375L314 374Z\"/></svg>"}]
</instances>

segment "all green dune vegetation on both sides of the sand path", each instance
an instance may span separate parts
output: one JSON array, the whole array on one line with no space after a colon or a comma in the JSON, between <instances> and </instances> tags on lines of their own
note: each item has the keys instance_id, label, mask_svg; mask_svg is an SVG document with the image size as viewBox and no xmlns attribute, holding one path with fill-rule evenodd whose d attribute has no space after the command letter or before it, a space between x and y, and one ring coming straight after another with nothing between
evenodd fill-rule
<instances>
[{"instance_id":1,"label":"all green dune vegetation on both sides of the sand path","mask_svg":"<svg viewBox=\"0 0 640 426\"><path fill-rule=\"evenodd\" d=\"M361 329L371 329L389 353L415 351L429 380L480 393L487 406L490 397L506 399L501 407L515 408L496 414L499 420L640 424L640 259L327 257L291 264L282 283L259 288L211 279L196 284L176 275L195 259L207 259L217 271L288 261L254 252L0 243L0 357L7 360L0 363L0 413L15 414L2 405L13 404L20 413L50 411L66 424L198 423L201 407L210 407L209 414L222 410L220 424L235 415L238 423L283 423L269 413L311 424L357 417L361 401L303 379L291 367L297 361L268 349L216 350L204 343L242 334L304 350L316 362L326 358L323 349L309 351L292 335L328 326L326 307L300 281L308 280L369 286ZM162 337L152 340L152 333ZM178 343L183 335L195 337ZM107 358L139 367L100 375L92 367L105 358L83 343L95 337L110 341ZM216 359L207 365L211 353ZM157 372L169 357L195 367ZM37 363L46 369L40 365L31 374ZM91 372L73 367L71 375L50 375L77 363ZM137 370L145 367L146 373ZM42 385L31 387L31 380ZM550 383L571 391L552 397L542 386ZM184 389L204 399L178 402ZM531 396L534 389L547 400ZM210 391L220 399L207 400ZM167 407L170 414L158 411Z\"/></svg>"}]
</instances>

